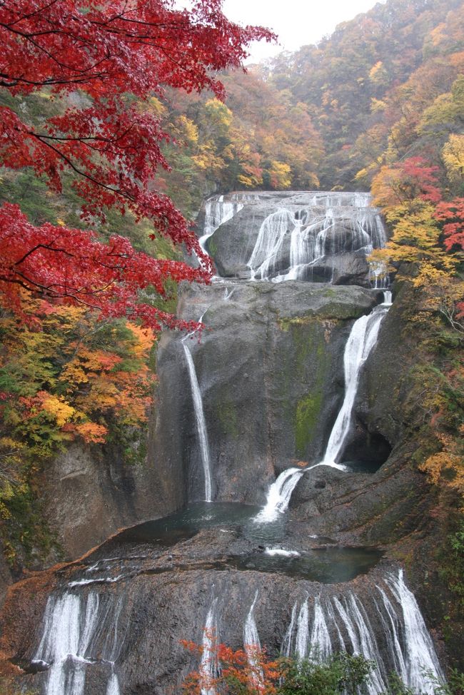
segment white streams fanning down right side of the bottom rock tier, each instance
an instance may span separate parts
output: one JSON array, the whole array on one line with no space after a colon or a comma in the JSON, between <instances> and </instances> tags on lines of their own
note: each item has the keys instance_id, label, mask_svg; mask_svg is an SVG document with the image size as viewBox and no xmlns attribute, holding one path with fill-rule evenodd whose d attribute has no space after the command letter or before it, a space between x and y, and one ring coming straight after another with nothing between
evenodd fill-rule
<instances>
[{"instance_id":1,"label":"white streams fanning down right side of the bottom rock tier","mask_svg":"<svg viewBox=\"0 0 464 695\"><path fill-rule=\"evenodd\" d=\"M367 683L369 695L385 691L388 673L393 670L415 693L433 695L433 679L435 683L443 682L432 640L418 604L405 585L402 569L396 575L386 574L382 585L375 584L365 601L353 592L343 597L326 596L323 600L314 597L311 629L308 599L305 599L293 640L297 610L298 602L293 605L291 622L283 639L284 656L304 659L309 654L310 659L325 661L336 651L362 654L376 664ZM368 614L371 620L375 617L375 622L368 619ZM388 645L384 656L379 648L383 642ZM432 681L428 674L432 674Z\"/></svg>"}]
</instances>

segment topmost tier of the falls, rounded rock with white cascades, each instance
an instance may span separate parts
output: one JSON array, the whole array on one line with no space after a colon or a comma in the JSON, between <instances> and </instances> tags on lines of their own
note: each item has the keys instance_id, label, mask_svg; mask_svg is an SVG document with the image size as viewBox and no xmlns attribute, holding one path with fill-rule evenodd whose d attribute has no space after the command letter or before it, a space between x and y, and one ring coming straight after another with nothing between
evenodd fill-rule
<instances>
[{"instance_id":1,"label":"topmost tier of the falls, rounded rock with white cascades","mask_svg":"<svg viewBox=\"0 0 464 695\"><path fill-rule=\"evenodd\" d=\"M204 215L201 243L223 277L379 283L366 257L386 234L368 193L233 193L210 198Z\"/></svg>"}]
</instances>

